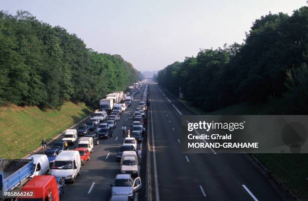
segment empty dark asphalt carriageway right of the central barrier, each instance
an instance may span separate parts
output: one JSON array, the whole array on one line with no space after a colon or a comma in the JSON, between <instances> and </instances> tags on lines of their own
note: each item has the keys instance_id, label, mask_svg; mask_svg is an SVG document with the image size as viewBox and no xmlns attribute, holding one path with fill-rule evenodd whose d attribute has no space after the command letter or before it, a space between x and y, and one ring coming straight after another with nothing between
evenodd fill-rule
<instances>
[{"instance_id":1,"label":"empty dark asphalt carriageway right of the central barrier","mask_svg":"<svg viewBox=\"0 0 308 201\"><path fill-rule=\"evenodd\" d=\"M182 154L181 118L193 113L155 83L149 95L153 200L284 200L245 154Z\"/></svg>"}]
</instances>

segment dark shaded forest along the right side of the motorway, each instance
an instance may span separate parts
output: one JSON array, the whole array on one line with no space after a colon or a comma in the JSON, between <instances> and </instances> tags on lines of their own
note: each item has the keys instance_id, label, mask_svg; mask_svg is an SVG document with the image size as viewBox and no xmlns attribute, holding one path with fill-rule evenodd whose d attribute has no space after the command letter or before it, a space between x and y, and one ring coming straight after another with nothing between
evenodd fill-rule
<instances>
[{"instance_id":1,"label":"dark shaded forest along the right side of the motorway","mask_svg":"<svg viewBox=\"0 0 308 201\"><path fill-rule=\"evenodd\" d=\"M242 44L202 49L159 71L157 80L204 111L241 102L273 113L308 114L308 7L256 20Z\"/></svg>"}]
</instances>

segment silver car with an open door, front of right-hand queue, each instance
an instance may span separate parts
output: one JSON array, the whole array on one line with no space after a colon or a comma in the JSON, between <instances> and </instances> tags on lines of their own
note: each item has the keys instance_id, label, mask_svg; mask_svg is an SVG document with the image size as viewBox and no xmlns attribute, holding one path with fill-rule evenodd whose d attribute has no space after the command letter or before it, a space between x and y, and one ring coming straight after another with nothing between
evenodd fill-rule
<instances>
[{"instance_id":1,"label":"silver car with an open door, front of right-hand queue","mask_svg":"<svg viewBox=\"0 0 308 201\"><path fill-rule=\"evenodd\" d=\"M129 200L133 200L135 192L141 189L141 179L137 177L133 180L130 174L117 174L110 186L112 196L127 195Z\"/></svg>"}]
</instances>

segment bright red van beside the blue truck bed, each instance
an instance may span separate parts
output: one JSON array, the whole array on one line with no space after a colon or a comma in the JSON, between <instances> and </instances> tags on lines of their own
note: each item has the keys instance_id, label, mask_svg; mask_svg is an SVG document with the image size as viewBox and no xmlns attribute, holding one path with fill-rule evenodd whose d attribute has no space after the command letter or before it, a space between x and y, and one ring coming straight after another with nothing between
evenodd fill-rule
<instances>
[{"instance_id":1,"label":"bright red van beside the blue truck bed","mask_svg":"<svg viewBox=\"0 0 308 201\"><path fill-rule=\"evenodd\" d=\"M41 200L58 201L59 189L56 179L52 175L34 176L22 188L22 192L30 192L30 196L18 197L18 201Z\"/></svg>"}]
</instances>

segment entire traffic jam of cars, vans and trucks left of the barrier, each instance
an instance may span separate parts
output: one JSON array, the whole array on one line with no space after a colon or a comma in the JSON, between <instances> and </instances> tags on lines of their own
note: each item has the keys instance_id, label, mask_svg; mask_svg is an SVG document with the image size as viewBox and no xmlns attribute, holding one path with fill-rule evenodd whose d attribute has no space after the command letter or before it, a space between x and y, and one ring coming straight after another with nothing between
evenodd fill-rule
<instances>
[{"instance_id":1,"label":"entire traffic jam of cars, vans and trucks left of the barrier","mask_svg":"<svg viewBox=\"0 0 308 201\"><path fill-rule=\"evenodd\" d=\"M140 101L131 108L137 94L140 94ZM81 169L91 160L95 146L111 140L115 129L121 130L123 140L116 157L119 171L109 186L110 200L136 200L135 194L142 188L140 144L146 135L147 107L148 83L143 80L133 83L125 93L107 94L99 100L99 109L90 114L86 122L76 129L65 130L60 140L48 144L40 152L26 159L0 158L3 200L60 200L67 185L79 182ZM126 125L118 125L125 112L131 121L127 118Z\"/></svg>"}]
</instances>

